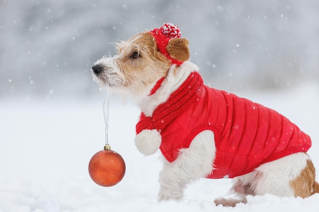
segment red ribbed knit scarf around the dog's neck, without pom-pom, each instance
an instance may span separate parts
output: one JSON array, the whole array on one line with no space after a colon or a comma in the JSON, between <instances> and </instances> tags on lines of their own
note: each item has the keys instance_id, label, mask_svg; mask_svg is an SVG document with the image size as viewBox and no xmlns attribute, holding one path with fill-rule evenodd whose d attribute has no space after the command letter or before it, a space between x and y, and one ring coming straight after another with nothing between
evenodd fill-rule
<instances>
[{"instance_id":1,"label":"red ribbed knit scarf around the dog's neck, without pom-pom","mask_svg":"<svg viewBox=\"0 0 319 212\"><path fill-rule=\"evenodd\" d=\"M196 101L203 87L203 79L197 72L190 76L173 92L168 100L158 105L152 116L145 116L142 112L140 120L136 125L136 133L142 130L163 130L172 120L182 114Z\"/></svg>"}]
</instances>

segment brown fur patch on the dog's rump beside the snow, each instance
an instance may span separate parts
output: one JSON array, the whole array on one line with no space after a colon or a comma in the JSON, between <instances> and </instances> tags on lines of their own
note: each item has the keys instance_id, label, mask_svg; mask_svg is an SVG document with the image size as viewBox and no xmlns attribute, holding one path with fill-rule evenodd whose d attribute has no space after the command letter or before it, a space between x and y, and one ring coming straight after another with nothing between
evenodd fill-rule
<instances>
[{"instance_id":1,"label":"brown fur patch on the dog's rump beside the snow","mask_svg":"<svg viewBox=\"0 0 319 212\"><path fill-rule=\"evenodd\" d=\"M307 161L307 165L300 175L290 181L290 186L293 188L296 197L306 198L319 192L319 185L315 181L315 169L310 160Z\"/></svg>"}]
</instances>

